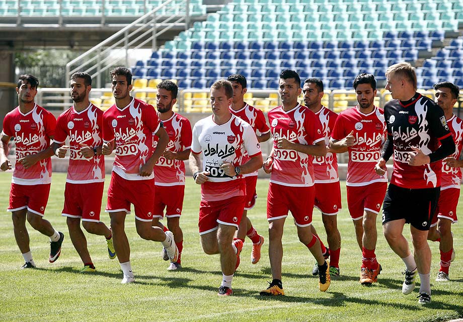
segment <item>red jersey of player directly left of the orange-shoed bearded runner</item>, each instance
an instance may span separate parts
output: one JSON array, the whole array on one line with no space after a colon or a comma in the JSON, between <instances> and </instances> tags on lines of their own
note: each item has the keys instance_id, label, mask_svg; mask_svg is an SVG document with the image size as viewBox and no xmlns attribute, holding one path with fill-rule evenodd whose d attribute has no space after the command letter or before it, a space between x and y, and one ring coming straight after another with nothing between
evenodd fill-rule
<instances>
[{"instance_id":1,"label":"red jersey of player directly left of the orange-shoed bearded runner","mask_svg":"<svg viewBox=\"0 0 463 322\"><path fill-rule=\"evenodd\" d=\"M325 136L325 144L330 143L331 132L338 118L338 114L322 106L320 111L315 113L322 123L322 133ZM314 156L315 183L338 182L338 157L336 153L328 152L326 156Z\"/></svg>"}]
</instances>

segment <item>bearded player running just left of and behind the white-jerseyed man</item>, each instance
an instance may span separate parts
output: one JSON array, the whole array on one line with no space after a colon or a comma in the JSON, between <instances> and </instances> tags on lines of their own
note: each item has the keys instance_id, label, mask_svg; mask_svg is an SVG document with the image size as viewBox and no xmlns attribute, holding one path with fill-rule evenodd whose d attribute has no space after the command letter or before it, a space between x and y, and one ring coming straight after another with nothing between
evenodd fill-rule
<instances>
[{"instance_id":1,"label":"bearded player running just left of and behind the white-jerseyed man","mask_svg":"<svg viewBox=\"0 0 463 322\"><path fill-rule=\"evenodd\" d=\"M152 224L167 231L166 226L159 221L164 217L166 208L167 227L174 233L175 244L179 250L177 262L171 262L168 267L168 270L175 271L182 268L183 231L180 228L180 216L185 195L185 163L183 161L188 160L190 156L192 132L190 121L172 111L172 106L177 102L177 85L171 81L163 81L158 84L157 88L156 108L158 117L169 135L169 144L153 169L155 172L155 212ZM157 137L153 143L156 149ZM169 260L165 248L163 259Z\"/></svg>"}]
</instances>

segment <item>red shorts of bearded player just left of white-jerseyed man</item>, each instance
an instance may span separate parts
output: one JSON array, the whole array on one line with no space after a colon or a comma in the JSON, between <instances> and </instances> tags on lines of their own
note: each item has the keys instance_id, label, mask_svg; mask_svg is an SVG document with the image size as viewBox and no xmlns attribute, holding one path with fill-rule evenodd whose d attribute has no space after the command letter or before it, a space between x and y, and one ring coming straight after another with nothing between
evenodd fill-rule
<instances>
[{"instance_id":1,"label":"red shorts of bearded player just left of white-jerseyed man","mask_svg":"<svg viewBox=\"0 0 463 322\"><path fill-rule=\"evenodd\" d=\"M155 210L153 217L163 218L164 208L166 217L180 217L183 208L185 186L157 186L155 185Z\"/></svg>"}]
</instances>

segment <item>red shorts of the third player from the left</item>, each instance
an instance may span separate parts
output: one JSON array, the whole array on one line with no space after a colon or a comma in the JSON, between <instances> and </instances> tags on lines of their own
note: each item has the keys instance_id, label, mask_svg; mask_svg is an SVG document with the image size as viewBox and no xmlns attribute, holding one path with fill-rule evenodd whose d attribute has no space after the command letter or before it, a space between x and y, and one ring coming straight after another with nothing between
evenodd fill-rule
<instances>
[{"instance_id":1,"label":"red shorts of the third player from the left","mask_svg":"<svg viewBox=\"0 0 463 322\"><path fill-rule=\"evenodd\" d=\"M151 221L155 204L155 179L126 180L113 171L106 212L130 213L130 204L135 208L136 219Z\"/></svg>"}]
</instances>

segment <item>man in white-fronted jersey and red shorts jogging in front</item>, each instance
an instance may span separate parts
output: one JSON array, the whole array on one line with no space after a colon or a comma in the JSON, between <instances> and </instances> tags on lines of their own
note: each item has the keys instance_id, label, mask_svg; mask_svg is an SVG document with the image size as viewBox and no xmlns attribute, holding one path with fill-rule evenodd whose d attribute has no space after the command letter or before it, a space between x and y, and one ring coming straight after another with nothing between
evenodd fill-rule
<instances>
[{"instance_id":1,"label":"man in white-fronted jersey and red shorts jogging in front","mask_svg":"<svg viewBox=\"0 0 463 322\"><path fill-rule=\"evenodd\" d=\"M194 125L190 155L193 179L201 185L201 245L206 254L220 254L220 296L233 294L231 281L243 248L240 239L233 240L245 207L242 175L262 166L256 134L248 123L230 113L232 102L231 83L225 79L215 82L210 90L212 115Z\"/></svg>"}]
</instances>

